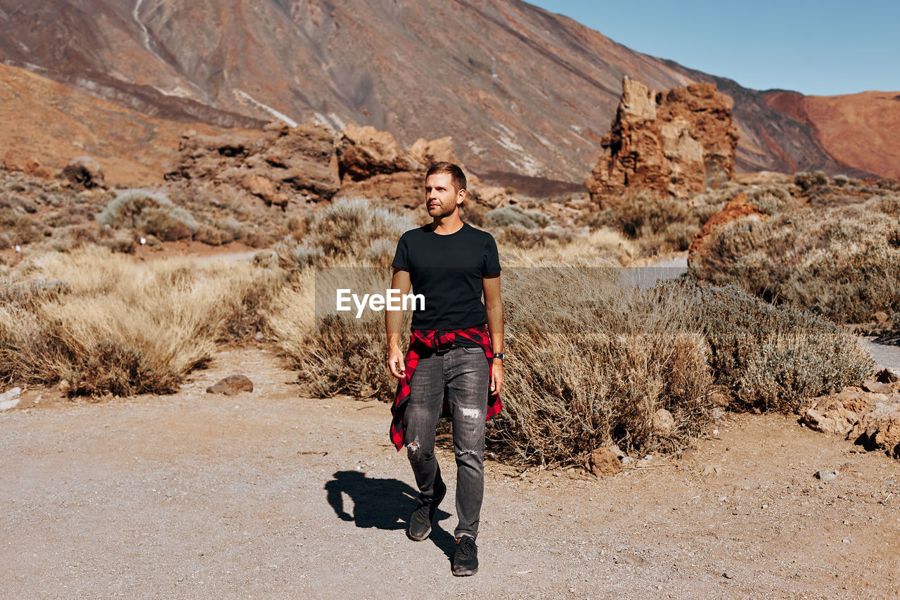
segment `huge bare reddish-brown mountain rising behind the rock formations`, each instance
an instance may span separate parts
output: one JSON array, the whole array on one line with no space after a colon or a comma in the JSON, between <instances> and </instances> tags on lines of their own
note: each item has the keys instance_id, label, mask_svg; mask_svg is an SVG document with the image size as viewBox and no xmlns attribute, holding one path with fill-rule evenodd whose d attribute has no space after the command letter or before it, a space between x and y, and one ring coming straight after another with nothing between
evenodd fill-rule
<instances>
[{"instance_id":1,"label":"huge bare reddish-brown mountain rising behind the rock formations","mask_svg":"<svg viewBox=\"0 0 900 600\"><path fill-rule=\"evenodd\" d=\"M896 160L870 156L896 156L900 102L878 104L873 118L889 128L867 146L883 128L836 124L841 97L788 102L519 0L0 0L0 60L141 118L257 129L314 120L336 133L356 123L404 147L452 136L476 173L578 183L624 75L652 89L713 81L733 103L739 170L900 175ZM24 156L29 143L19 136L7 150Z\"/></svg>"}]
</instances>

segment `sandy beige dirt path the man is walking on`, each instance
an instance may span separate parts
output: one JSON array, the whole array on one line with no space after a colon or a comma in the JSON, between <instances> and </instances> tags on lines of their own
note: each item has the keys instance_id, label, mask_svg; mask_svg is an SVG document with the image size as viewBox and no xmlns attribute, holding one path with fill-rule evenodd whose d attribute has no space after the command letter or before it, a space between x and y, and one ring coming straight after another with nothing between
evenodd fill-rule
<instances>
[{"instance_id":1,"label":"sandy beige dirt path the man is walking on","mask_svg":"<svg viewBox=\"0 0 900 600\"><path fill-rule=\"evenodd\" d=\"M233 372L256 391L203 392ZM481 572L452 577L452 495L431 539L404 535L414 483L389 445L388 405L310 400L291 381L272 351L249 349L222 351L175 395L92 405L26 391L0 414L0 595L888 598L900 589L900 462L774 415L736 416L687 459L639 461L602 480L523 477L491 463ZM439 459L452 481L452 450ZM820 483L820 468L840 475Z\"/></svg>"}]
</instances>

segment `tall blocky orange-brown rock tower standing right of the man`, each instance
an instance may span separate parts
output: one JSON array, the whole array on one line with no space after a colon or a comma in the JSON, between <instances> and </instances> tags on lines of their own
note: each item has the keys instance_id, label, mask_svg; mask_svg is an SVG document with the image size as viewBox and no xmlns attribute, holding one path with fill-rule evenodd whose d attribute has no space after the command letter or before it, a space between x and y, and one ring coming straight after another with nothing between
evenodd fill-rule
<instances>
[{"instance_id":1,"label":"tall blocky orange-brown rock tower standing right of the man","mask_svg":"<svg viewBox=\"0 0 900 600\"><path fill-rule=\"evenodd\" d=\"M687 197L734 177L738 131L725 96L712 83L652 92L622 80L604 152L585 181L601 207L626 189Z\"/></svg>"}]
</instances>

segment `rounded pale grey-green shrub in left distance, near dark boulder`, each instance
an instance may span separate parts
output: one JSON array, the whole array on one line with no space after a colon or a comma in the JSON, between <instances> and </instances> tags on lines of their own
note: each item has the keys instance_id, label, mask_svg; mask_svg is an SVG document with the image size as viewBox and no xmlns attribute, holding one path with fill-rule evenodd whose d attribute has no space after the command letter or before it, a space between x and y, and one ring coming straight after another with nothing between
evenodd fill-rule
<instances>
[{"instance_id":1,"label":"rounded pale grey-green shrub in left distance, near dark boulder","mask_svg":"<svg viewBox=\"0 0 900 600\"><path fill-rule=\"evenodd\" d=\"M197 231L190 213L172 204L166 195L142 189L119 192L97 215L97 223L150 233L163 241L184 240Z\"/></svg>"}]
</instances>

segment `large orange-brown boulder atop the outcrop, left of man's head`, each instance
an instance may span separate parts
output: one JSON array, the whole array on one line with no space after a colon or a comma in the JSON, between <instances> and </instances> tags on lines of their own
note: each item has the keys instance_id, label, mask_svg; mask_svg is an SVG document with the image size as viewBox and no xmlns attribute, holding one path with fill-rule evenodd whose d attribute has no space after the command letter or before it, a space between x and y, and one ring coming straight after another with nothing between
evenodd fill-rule
<instances>
[{"instance_id":1,"label":"large orange-brown boulder atop the outcrop, left of man's head","mask_svg":"<svg viewBox=\"0 0 900 600\"><path fill-rule=\"evenodd\" d=\"M338 169L341 181L361 181L418 168L401 151L390 132L374 127L347 125L338 141Z\"/></svg>"}]
</instances>

